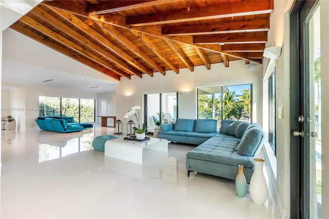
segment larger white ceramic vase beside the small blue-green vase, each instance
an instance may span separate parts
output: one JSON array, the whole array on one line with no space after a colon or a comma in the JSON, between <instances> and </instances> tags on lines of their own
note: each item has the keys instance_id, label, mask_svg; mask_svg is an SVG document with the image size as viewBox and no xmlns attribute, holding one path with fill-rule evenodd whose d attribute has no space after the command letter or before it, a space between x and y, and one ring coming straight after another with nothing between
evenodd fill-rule
<instances>
[{"instance_id":1,"label":"larger white ceramic vase beside the small blue-green vase","mask_svg":"<svg viewBox=\"0 0 329 219\"><path fill-rule=\"evenodd\" d=\"M258 205L263 205L268 197L268 188L263 173L263 165L265 160L254 158L255 169L250 179L250 197L252 201Z\"/></svg>"}]
</instances>

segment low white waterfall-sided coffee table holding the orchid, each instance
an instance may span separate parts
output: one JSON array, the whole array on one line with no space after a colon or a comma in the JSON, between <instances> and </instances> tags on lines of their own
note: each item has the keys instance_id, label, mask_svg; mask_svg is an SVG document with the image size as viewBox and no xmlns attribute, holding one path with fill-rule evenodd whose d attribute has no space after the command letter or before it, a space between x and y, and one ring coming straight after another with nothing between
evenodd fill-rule
<instances>
[{"instance_id":1,"label":"low white waterfall-sided coffee table holding the orchid","mask_svg":"<svg viewBox=\"0 0 329 219\"><path fill-rule=\"evenodd\" d=\"M143 150L168 152L168 140L150 138L146 141L124 140L123 137L107 140L104 155L138 164L143 163Z\"/></svg>"}]
</instances>

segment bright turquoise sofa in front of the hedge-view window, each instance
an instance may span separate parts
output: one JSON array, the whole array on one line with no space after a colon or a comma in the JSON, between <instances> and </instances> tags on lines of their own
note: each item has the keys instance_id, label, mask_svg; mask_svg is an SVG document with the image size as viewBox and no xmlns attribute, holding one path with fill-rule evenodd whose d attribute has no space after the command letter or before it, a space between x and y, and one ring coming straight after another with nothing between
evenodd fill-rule
<instances>
[{"instance_id":1,"label":"bright turquoise sofa in front of the hedge-view window","mask_svg":"<svg viewBox=\"0 0 329 219\"><path fill-rule=\"evenodd\" d=\"M80 132L84 129L93 128L93 124L90 123L74 122L74 118L72 116L38 117L35 121L39 125L40 129L44 131L68 133Z\"/></svg>"}]
</instances>

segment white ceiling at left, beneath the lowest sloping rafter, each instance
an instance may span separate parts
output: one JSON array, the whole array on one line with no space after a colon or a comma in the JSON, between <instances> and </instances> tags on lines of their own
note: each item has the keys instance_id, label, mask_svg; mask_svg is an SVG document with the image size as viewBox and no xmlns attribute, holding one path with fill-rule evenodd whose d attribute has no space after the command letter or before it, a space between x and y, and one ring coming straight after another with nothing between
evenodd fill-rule
<instances>
[{"instance_id":1,"label":"white ceiling at left, beneath the lowest sloping rafter","mask_svg":"<svg viewBox=\"0 0 329 219\"><path fill-rule=\"evenodd\" d=\"M3 31L2 83L115 92L118 81L10 28ZM50 80L49 82L43 82ZM95 88L91 88L95 87Z\"/></svg>"}]
</instances>

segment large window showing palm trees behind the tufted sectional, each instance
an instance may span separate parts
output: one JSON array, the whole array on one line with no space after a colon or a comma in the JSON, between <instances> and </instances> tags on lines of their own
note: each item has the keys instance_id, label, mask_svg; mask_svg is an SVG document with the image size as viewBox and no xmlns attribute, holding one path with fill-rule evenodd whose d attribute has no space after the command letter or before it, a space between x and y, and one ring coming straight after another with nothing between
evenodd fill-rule
<instances>
[{"instance_id":1,"label":"large window showing palm trees behind the tufted sectional","mask_svg":"<svg viewBox=\"0 0 329 219\"><path fill-rule=\"evenodd\" d=\"M198 88L198 119L251 122L251 92L251 84Z\"/></svg>"}]
</instances>

